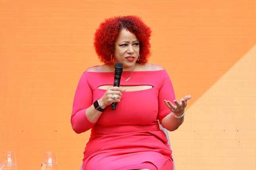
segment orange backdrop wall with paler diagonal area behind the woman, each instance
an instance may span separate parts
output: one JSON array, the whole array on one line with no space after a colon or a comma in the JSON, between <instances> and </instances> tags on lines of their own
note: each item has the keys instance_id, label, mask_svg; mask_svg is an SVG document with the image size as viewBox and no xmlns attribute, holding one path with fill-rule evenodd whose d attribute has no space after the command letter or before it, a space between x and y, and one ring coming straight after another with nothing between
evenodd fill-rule
<instances>
[{"instance_id":1,"label":"orange backdrop wall with paler diagonal area behind the woman","mask_svg":"<svg viewBox=\"0 0 256 170\"><path fill-rule=\"evenodd\" d=\"M73 132L73 97L104 19L138 15L152 28L150 62L166 68L176 98L191 94L169 132L177 170L256 169L255 0L1 0L0 150L19 170L56 151L75 170L90 131Z\"/></svg>"}]
</instances>

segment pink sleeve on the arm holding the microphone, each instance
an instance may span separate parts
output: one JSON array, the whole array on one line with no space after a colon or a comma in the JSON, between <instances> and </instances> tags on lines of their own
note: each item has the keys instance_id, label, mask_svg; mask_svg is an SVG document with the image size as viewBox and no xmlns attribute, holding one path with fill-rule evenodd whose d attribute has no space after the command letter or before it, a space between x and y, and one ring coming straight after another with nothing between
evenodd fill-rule
<instances>
[{"instance_id":1,"label":"pink sleeve on the arm holding the microphone","mask_svg":"<svg viewBox=\"0 0 256 170\"><path fill-rule=\"evenodd\" d=\"M81 76L75 92L71 125L76 133L82 133L94 125L85 115L85 111L92 105L92 90L87 81L86 72Z\"/></svg>"}]
</instances>

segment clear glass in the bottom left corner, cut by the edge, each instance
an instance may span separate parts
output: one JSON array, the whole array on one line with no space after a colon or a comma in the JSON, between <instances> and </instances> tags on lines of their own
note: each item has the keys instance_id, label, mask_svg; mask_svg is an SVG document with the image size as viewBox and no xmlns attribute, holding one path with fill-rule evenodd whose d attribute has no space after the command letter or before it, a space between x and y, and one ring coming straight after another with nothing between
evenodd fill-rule
<instances>
[{"instance_id":1,"label":"clear glass in the bottom left corner, cut by the edge","mask_svg":"<svg viewBox=\"0 0 256 170\"><path fill-rule=\"evenodd\" d=\"M2 151L0 170L17 170L14 151Z\"/></svg>"}]
</instances>

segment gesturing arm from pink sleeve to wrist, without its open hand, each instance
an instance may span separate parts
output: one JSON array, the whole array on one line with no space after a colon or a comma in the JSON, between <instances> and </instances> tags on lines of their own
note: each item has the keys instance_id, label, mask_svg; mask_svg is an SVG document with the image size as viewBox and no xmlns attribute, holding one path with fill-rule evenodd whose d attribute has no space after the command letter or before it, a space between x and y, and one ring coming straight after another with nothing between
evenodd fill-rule
<instances>
[{"instance_id":1,"label":"gesturing arm from pink sleeve to wrist, without its open hand","mask_svg":"<svg viewBox=\"0 0 256 170\"><path fill-rule=\"evenodd\" d=\"M165 80L158 94L158 120L160 121L162 127L166 128L169 131L173 131L176 130L183 123L184 117L179 119L175 118L171 114L171 110L166 106L164 100L169 100L175 105L175 103L173 102L173 100L175 100L175 94L171 80L167 72L165 73Z\"/></svg>"}]
</instances>

